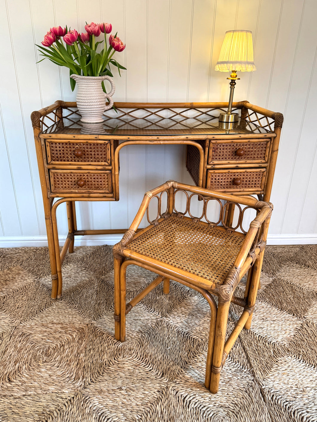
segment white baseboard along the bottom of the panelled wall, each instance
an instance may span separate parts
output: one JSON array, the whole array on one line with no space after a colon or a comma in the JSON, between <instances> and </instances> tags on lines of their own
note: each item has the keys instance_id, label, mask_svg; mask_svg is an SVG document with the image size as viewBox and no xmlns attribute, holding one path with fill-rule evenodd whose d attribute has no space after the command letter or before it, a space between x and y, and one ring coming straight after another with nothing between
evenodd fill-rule
<instances>
[{"instance_id":1,"label":"white baseboard along the bottom of the panelled wall","mask_svg":"<svg viewBox=\"0 0 317 422\"><path fill-rule=\"evenodd\" d=\"M75 246L114 245L123 235L87 235L76 236ZM60 246L66 240L66 236L59 236ZM268 245L315 245L317 233L314 234L271 234L268 235ZM12 248L20 246L47 246L46 236L0 236L0 248Z\"/></svg>"}]
</instances>

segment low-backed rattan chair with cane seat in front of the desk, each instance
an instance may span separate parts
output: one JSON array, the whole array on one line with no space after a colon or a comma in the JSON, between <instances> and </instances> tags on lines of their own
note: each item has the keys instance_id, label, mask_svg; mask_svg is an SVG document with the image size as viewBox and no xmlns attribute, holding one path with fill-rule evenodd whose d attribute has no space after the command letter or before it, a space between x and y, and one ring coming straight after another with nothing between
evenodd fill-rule
<instances>
[{"instance_id":1,"label":"low-backed rattan chair with cane seat in front of the desk","mask_svg":"<svg viewBox=\"0 0 317 422\"><path fill-rule=\"evenodd\" d=\"M179 191L184 192L187 198L183 213L175 209L175 194ZM162 212L164 192L167 194L167 207ZM195 195L203 204L202 215L198 217L191 214L191 201ZM156 219L150 221L149 204L153 197L158 200L158 213ZM221 200L225 201L224 205ZM219 218L211 222L207 218L208 207L213 206L215 201L216 208L220 208ZM242 209L239 204L245 208ZM239 216L237 224L232 227L235 207ZM242 223L249 208L254 208L257 216L246 231ZM205 386L213 393L218 392L220 373L228 353L243 327L249 329L251 325L272 210L271 203L251 196L226 195L176 181L167 181L146 192L131 227L113 249L115 338L125 340L126 314L161 281L166 294L169 293L169 279L197 290L208 301L211 310ZM137 232L145 213L150 225ZM239 227L241 231L237 231ZM158 277L126 303L128 265L146 268ZM233 295L235 288L248 270L244 298L238 298ZM218 296L218 306L213 295ZM225 341L231 302L243 311Z\"/></svg>"}]
</instances>

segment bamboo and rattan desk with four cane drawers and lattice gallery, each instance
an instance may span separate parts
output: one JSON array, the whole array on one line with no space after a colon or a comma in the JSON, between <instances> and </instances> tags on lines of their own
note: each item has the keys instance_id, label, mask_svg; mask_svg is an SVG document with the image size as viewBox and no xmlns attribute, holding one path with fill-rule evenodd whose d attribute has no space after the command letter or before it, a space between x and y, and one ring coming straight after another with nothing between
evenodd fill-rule
<instances>
[{"instance_id":1,"label":"bamboo and rattan desk with four cane drawers and lattice gallery","mask_svg":"<svg viewBox=\"0 0 317 422\"><path fill-rule=\"evenodd\" d=\"M127 145L187 145L186 167L199 187L270 200L283 115L248 101L233 103L235 124L218 122L227 103L115 103L103 124L82 124L74 102L56 101L31 120L52 271L52 298L62 294L61 265L77 230L76 201L119 200L119 152ZM56 200L55 198L60 198ZM68 236L60 252L56 209L66 202ZM227 207L232 222L234 208Z\"/></svg>"}]
</instances>

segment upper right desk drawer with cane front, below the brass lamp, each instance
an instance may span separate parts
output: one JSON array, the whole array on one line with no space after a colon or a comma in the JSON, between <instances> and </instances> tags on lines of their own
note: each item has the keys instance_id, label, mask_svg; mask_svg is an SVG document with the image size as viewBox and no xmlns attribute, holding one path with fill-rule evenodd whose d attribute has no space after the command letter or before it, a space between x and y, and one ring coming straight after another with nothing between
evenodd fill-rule
<instances>
[{"instance_id":1,"label":"upper right desk drawer with cane front, below the brass lamp","mask_svg":"<svg viewBox=\"0 0 317 422\"><path fill-rule=\"evenodd\" d=\"M210 142L208 164L267 162L270 139L244 142Z\"/></svg>"}]
</instances>

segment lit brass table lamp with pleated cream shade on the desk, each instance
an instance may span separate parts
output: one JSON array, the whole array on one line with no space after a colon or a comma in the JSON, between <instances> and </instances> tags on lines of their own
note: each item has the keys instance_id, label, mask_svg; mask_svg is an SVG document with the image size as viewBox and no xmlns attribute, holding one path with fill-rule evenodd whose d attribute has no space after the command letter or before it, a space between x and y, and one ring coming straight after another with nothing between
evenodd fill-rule
<instances>
[{"instance_id":1,"label":"lit brass table lamp with pleated cream shade on the desk","mask_svg":"<svg viewBox=\"0 0 317 422\"><path fill-rule=\"evenodd\" d=\"M221 72L231 71L230 78L230 97L227 113L219 115L219 122L237 122L238 113L231 113L233 91L237 78L237 70L241 72L253 72L257 70L253 61L252 32L248 30L227 31L224 42L221 47L219 60L215 70Z\"/></svg>"}]
</instances>

